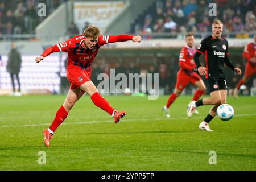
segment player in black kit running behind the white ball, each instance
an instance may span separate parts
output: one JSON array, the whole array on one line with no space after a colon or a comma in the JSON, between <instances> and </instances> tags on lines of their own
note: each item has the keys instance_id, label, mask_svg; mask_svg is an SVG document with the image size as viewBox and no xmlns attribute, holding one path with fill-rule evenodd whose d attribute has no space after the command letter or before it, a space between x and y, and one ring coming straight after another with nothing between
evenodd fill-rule
<instances>
[{"instance_id":1,"label":"player in black kit running behind the white ball","mask_svg":"<svg viewBox=\"0 0 256 182\"><path fill-rule=\"evenodd\" d=\"M234 67L228 59L229 45L226 39L221 38L222 31L223 23L220 20L214 20L212 23L212 36L201 41L193 57L199 74L202 76L205 75L205 78L208 81L210 97L198 101L191 101L187 107L187 115L188 117L191 117L193 111L196 110L196 107L213 105L207 117L199 125L199 129L205 131L212 131L210 130L208 123L216 115L218 106L226 103L227 86L224 75L224 63L237 72L238 75L241 75L242 73L241 69ZM205 67L199 62L199 56L201 54L204 54L205 56Z\"/></svg>"}]
</instances>

